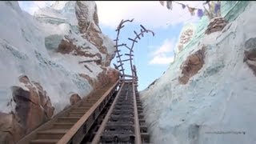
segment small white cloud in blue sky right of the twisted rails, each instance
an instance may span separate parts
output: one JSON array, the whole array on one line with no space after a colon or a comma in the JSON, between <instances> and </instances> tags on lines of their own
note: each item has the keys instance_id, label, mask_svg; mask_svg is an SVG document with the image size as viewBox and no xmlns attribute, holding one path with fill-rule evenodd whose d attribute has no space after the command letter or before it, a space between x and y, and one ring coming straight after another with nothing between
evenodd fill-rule
<instances>
[{"instance_id":1,"label":"small white cloud in blue sky right of the twisted rails","mask_svg":"<svg viewBox=\"0 0 256 144\"><path fill-rule=\"evenodd\" d=\"M149 64L170 64L170 62L174 61L174 40L166 39L162 46L159 46L157 50L150 54L153 56L152 60L150 60ZM171 55L171 56L167 56Z\"/></svg>"}]
</instances>

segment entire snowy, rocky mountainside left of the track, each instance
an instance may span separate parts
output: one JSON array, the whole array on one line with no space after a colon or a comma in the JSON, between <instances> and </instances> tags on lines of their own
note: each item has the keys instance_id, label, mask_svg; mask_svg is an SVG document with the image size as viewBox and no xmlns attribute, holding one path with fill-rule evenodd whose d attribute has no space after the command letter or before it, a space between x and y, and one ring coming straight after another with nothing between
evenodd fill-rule
<instances>
[{"instance_id":1,"label":"entire snowy, rocky mountainside left of the track","mask_svg":"<svg viewBox=\"0 0 256 144\"><path fill-rule=\"evenodd\" d=\"M17 141L74 103L73 95L118 78L95 2L55 2L34 16L18 2L0 2L0 11L0 141Z\"/></svg>"}]
</instances>

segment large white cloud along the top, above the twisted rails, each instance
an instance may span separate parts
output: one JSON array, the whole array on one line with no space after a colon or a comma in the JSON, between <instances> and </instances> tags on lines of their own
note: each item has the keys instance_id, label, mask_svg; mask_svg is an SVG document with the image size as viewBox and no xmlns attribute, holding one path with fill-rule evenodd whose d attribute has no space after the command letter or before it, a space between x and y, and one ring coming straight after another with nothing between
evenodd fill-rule
<instances>
[{"instance_id":1,"label":"large white cloud along the top, above the twisted rails","mask_svg":"<svg viewBox=\"0 0 256 144\"><path fill-rule=\"evenodd\" d=\"M202 8L202 2L182 2ZM98 6L98 18L102 25L116 28L122 19L134 18L134 22L146 24L149 27L167 27L167 24L175 25L179 22L195 21L197 16L191 16L187 8L174 3L173 10L161 6L158 1L96 1Z\"/></svg>"}]
</instances>

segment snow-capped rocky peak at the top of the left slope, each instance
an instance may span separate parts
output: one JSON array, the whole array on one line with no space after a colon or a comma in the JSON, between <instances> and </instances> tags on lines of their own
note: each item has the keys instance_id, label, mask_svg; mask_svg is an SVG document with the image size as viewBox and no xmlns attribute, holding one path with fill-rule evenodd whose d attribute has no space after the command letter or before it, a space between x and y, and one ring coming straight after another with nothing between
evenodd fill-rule
<instances>
[{"instance_id":1,"label":"snow-capped rocky peak at the top of the left slope","mask_svg":"<svg viewBox=\"0 0 256 144\"><path fill-rule=\"evenodd\" d=\"M98 49L96 53L101 55L102 66L110 66L115 54L114 42L102 34L98 26L95 2L56 1L52 6L36 11L34 18L45 35L48 50L56 51L59 44L85 49L88 47L86 43L90 43L90 47L94 47L92 50ZM90 50L86 52L90 53Z\"/></svg>"}]
</instances>

